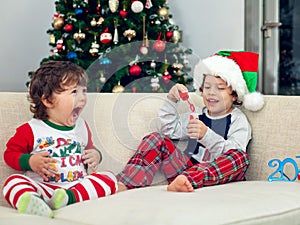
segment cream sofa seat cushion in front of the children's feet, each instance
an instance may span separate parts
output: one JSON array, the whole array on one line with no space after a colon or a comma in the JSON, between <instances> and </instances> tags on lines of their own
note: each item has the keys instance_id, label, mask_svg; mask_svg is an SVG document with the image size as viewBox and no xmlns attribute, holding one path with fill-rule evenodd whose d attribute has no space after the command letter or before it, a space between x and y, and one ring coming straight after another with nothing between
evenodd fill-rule
<instances>
[{"instance_id":1,"label":"cream sofa seat cushion in front of the children's feet","mask_svg":"<svg viewBox=\"0 0 300 225\"><path fill-rule=\"evenodd\" d=\"M55 218L95 225L292 225L299 224L299 189L299 183L264 181L229 183L192 193L152 186L70 205L56 211Z\"/></svg>"}]
</instances>

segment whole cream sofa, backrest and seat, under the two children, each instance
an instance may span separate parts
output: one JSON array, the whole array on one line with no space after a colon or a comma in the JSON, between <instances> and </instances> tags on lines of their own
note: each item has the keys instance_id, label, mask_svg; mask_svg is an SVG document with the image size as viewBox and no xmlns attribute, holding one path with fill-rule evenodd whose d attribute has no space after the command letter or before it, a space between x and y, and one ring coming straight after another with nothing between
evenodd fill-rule
<instances>
[{"instance_id":1,"label":"whole cream sofa, backrest and seat, under the two children","mask_svg":"<svg viewBox=\"0 0 300 225\"><path fill-rule=\"evenodd\" d=\"M88 94L83 117L95 144L102 150L99 170L120 171L141 138L157 130L157 110L166 94ZM202 103L197 94L192 101ZM0 93L0 185L11 173L3 161L5 144L15 128L32 115L25 93ZM129 190L73 204L54 212L55 218L21 215L8 206L1 192L0 224L300 224L300 183L273 181L271 159L296 159L300 152L300 97L265 96L259 112L245 111L253 128L247 181L197 189L192 193L166 191L162 175L151 187ZM180 112L187 110L182 103ZM185 143L181 143L185 144ZM287 163L285 174L295 176Z\"/></svg>"}]
</instances>

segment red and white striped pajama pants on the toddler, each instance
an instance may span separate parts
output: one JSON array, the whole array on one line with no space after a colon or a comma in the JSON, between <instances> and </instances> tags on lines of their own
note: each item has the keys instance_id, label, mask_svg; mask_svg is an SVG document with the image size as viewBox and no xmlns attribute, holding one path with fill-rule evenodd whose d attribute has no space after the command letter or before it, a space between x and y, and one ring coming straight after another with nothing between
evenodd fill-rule
<instances>
[{"instance_id":1,"label":"red and white striped pajama pants on the toddler","mask_svg":"<svg viewBox=\"0 0 300 225\"><path fill-rule=\"evenodd\" d=\"M25 192L36 194L48 202L57 188L63 187L47 182L36 182L22 174L13 174L6 179L3 194L6 201L12 207L17 208L20 196ZM68 188L73 192L75 202L112 195L117 192L117 189L116 177L111 172L92 173L76 185Z\"/></svg>"}]
</instances>

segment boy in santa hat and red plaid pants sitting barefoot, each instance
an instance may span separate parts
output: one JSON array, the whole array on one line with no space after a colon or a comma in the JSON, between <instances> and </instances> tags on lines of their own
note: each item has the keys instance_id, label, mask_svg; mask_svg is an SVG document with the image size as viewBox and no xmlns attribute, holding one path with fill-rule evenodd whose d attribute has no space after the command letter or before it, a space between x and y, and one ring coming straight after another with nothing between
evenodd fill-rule
<instances>
[{"instance_id":1,"label":"boy in santa hat and red plaid pants sitting barefoot","mask_svg":"<svg viewBox=\"0 0 300 225\"><path fill-rule=\"evenodd\" d=\"M178 114L187 88L174 85L159 111L161 133L142 140L136 153L118 174L121 189L145 187L157 170L168 180L168 191L191 192L196 188L245 179L246 153L251 126L236 105L258 111L264 101L256 92L258 55L244 51L221 51L195 67L195 87L205 107L198 118ZM191 108L192 109L192 108ZM180 150L175 140L188 138Z\"/></svg>"}]
</instances>

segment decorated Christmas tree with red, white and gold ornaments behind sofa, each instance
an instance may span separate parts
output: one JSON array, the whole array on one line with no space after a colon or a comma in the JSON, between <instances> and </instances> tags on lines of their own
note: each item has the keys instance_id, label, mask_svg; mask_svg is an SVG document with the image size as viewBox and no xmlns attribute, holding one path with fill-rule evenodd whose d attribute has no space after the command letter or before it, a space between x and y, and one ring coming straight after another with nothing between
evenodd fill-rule
<instances>
[{"instance_id":1,"label":"decorated Christmas tree with red, white and gold ornaments behind sofa","mask_svg":"<svg viewBox=\"0 0 300 225\"><path fill-rule=\"evenodd\" d=\"M89 92L167 92L192 89L182 31L166 0L59 0L52 19L51 55L89 75Z\"/></svg>"}]
</instances>

